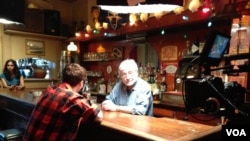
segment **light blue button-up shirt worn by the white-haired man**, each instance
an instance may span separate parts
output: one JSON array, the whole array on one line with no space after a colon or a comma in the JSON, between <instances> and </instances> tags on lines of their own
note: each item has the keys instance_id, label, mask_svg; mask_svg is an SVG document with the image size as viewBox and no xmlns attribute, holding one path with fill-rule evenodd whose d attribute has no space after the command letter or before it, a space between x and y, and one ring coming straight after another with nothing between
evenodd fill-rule
<instances>
[{"instance_id":1,"label":"light blue button-up shirt worn by the white-haired man","mask_svg":"<svg viewBox=\"0 0 250 141\"><path fill-rule=\"evenodd\" d=\"M131 107L132 114L153 116L153 97L149 84L138 78L134 87L127 92L126 86L118 82L106 100L111 100L114 104Z\"/></svg>"}]
</instances>

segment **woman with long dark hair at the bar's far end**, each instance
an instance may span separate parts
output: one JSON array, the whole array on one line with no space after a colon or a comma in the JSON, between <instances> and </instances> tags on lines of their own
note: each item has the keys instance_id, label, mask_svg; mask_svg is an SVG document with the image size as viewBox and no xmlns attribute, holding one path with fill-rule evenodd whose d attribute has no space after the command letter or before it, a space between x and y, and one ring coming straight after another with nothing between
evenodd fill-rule
<instances>
[{"instance_id":1,"label":"woman with long dark hair at the bar's far end","mask_svg":"<svg viewBox=\"0 0 250 141\"><path fill-rule=\"evenodd\" d=\"M20 72L17 63L13 59L5 62L3 74L0 75L4 88L10 90L22 90L24 86L24 75Z\"/></svg>"}]
</instances>

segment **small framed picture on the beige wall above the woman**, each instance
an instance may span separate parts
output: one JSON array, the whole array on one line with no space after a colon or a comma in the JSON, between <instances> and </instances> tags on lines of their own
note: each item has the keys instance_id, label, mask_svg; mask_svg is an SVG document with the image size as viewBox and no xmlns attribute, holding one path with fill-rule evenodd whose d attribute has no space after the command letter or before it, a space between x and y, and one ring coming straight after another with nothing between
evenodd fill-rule
<instances>
[{"instance_id":1,"label":"small framed picture on the beige wall above the woman","mask_svg":"<svg viewBox=\"0 0 250 141\"><path fill-rule=\"evenodd\" d=\"M27 55L38 55L38 56L45 55L44 41L27 39L25 44L26 44Z\"/></svg>"}]
</instances>

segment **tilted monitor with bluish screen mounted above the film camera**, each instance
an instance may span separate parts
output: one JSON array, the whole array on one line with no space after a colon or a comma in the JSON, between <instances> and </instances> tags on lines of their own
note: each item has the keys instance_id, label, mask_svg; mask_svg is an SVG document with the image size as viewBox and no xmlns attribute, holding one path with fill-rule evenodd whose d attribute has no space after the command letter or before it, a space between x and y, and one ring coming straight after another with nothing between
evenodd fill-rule
<instances>
[{"instance_id":1,"label":"tilted monitor with bluish screen mounted above the film camera","mask_svg":"<svg viewBox=\"0 0 250 141\"><path fill-rule=\"evenodd\" d=\"M228 49L231 37L219 31L212 31L200 54L202 66L218 66Z\"/></svg>"}]
</instances>

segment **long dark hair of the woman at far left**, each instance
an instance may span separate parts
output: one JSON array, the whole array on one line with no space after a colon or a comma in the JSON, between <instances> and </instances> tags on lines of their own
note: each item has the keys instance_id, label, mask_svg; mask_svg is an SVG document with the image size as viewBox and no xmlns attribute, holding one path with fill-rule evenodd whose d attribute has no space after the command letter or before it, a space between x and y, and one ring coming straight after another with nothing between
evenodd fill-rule
<instances>
[{"instance_id":1,"label":"long dark hair of the woman at far left","mask_svg":"<svg viewBox=\"0 0 250 141\"><path fill-rule=\"evenodd\" d=\"M12 62L13 65L14 65L14 70L13 70L13 72L14 72L15 77L16 77L17 79L20 79L21 73L20 73L19 68L18 68L18 66L17 66L17 63L16 63L16 61L15 61L14 59L9 59L9 60L7 60L7 61L5 62L4 69L3 69L3 74L5 75L6 79L7 79L7 80L11 80L11 74L10 74L10 72L9 72L8 69L7 69L7 66L8 66L8 63L9 63L9 62Z\"/></svg>"}]
</instances>

